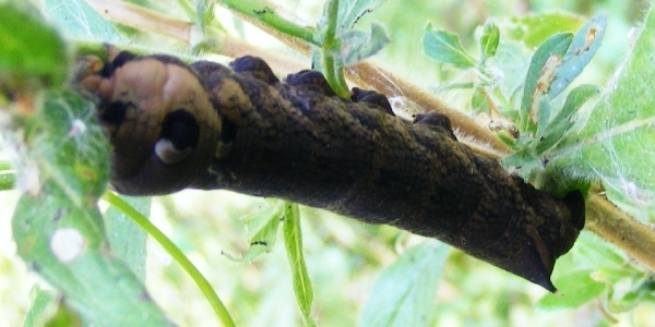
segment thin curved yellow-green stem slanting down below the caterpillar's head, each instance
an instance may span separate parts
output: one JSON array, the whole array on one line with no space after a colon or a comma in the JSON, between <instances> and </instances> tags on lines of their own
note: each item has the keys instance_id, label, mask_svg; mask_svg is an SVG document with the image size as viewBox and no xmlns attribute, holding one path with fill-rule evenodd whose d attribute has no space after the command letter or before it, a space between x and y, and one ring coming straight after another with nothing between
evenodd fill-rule
<instances>
[{"instance_id":1,"label":"thin curved yellow-green stem slanting down below the caterpillar's head","mask_svg":"<svg viewBox=\"0 0 655 327\"><path fill-rule=\"evenodd\" d=\"M193 279L193 281L198 284L198 288L202 291L204 296L210 302L212 308L218 316L218 319L223 323L224 326L234 327L235 322L231 316L223 305L223 302L214 292L214 289L207 281L207 279L198 270L198 268L189 261L189 258L182 253L182 251L170 241L156 226L154 226L145 216L130 206L127 202L122 201L119 196L114 194L112 192L105 192L103 198L110 203L112 206L117 207L119 210L123 211L128 217L130 217L134 222L136 222L141 228L143 228L157 243L166 250L166 252L176 261L187 274Z\"/></svg>"}]
</instances>

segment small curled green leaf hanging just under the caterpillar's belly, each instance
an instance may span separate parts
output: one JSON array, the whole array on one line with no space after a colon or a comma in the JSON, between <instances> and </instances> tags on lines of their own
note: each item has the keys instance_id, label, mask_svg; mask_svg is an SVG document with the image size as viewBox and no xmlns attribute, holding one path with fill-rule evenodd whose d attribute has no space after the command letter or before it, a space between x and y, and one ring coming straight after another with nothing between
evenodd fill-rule
<instances>
[{"instance_id":1,"label":"small curled green leaf hanging just under the caterpillar's belly","mask_svg":"<svg viewBox=\"0 0 655 327\"><path fill-rule=\"evenodd\" d=\"M248 252L240 258L224 253L226 257L234 262L247 263L273 249L286 202L275 199L272 205L269 203L270 202L266 202L266 205L257 213L242 218L243 223L246 223L248 232L250 233L250 247L248 249Z\"/></svg>"}]
</instances>

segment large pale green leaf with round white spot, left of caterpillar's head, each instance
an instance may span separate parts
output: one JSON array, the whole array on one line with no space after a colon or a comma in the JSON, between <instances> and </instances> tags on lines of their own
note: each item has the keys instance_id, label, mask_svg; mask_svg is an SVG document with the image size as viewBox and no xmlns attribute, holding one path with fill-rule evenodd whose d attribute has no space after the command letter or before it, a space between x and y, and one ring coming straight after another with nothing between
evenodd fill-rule
<instances>
[{"instance_id":1,"label":"large pale green leaf with round white spot, left of caterpillar's head","mask_svg":"<svg viewBox=\"0 0 655 327\"><path fill-rule=\"evenodd\" d=\"M12 220L17 253L63 292L85 320L105 326L169 326L143 283L109 252L97 198L106 187L108 143L92 104L48 92L26 123L40 187L21 196Z\"/></svg>"}]
</instances>

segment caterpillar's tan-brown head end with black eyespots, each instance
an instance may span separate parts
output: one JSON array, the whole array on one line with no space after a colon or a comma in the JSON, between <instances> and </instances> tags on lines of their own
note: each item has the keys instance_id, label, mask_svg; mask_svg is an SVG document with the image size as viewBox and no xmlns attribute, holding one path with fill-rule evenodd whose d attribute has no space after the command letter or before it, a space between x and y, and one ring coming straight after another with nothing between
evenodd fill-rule
<instances>
[{"instance_id":1,"label":"caterpillar's tan-brown head end with black eyespots","mask_svg":"<svg viewBox=\"0 0 655 327\"><path fill-rule=\"evenodd\" d=\"M116 191L156 195L206 183L221 119L192 69L168 56L120 52L80 86L99 99Z\"/></svg>"}]
</instances>

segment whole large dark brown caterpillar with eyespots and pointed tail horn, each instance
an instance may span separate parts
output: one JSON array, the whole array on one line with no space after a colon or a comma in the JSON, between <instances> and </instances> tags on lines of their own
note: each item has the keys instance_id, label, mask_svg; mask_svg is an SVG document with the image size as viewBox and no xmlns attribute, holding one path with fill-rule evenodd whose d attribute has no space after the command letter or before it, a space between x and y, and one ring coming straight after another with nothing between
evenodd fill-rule
<instances>
[{"instance_id":1,"label":"whole large dark brown caterpillar with eyespots and pointed tail horn","mask_svg":"<svg viewBox=\"0 0 655 327\"><path fill-rule=\"evenodd\" d=\"M437 238L555 291L555 261L584 226L580 192L559 199L509 175L443 116L407 122L380 94L340 98L312 71L283 83L258 58L230 66L121 52L82 78L111 137L117 191L285 198Z\"/></svg>"}]
</instances>

